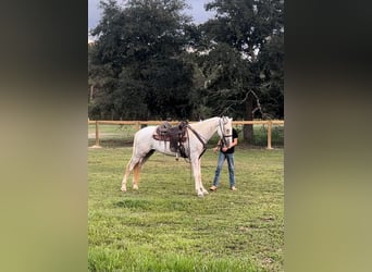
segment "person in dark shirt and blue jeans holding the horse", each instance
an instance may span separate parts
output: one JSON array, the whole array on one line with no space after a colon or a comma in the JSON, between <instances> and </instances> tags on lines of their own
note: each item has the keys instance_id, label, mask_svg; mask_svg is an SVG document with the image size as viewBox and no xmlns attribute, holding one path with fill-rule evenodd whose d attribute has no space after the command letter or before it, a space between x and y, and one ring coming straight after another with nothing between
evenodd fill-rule
<instances>
[{"instance_id":1,"label":"person in dark shirt and blue jeans holding the horse","mask_svg":"<svg viewBox=\"0 0 372 272\"><path fill-rule=\"evenodd\" d=\"M216 152L220 149L218 165L215 169L213 185L209 188L210 190L215 191L220 184L220 173L225 160L227 160L228 166L228 180L230 180L230 188L232 190L236 190L235 186L235 164L234 164L234 152L235 146L237 146L238 134L235 128L233 128L233 143L226 147L222 139L219 140L218 146L213 148L213 151Z\"/></svg>"}]
</instances>

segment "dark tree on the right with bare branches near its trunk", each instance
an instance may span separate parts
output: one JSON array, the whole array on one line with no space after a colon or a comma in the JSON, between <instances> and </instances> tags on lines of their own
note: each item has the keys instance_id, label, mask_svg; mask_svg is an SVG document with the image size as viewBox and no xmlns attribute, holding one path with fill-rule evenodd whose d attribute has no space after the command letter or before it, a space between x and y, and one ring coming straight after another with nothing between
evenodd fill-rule
<instances>
[{"instance_id":1,"label":"dark tree on the right with bare branches near its trunk","mask_svg":"<svg viewBox=\"0 0 372 272\"><path fill-rule=\"evenodd\" d=\"M261 109L258 101L277 103L272 109L283 104L283 4L282 0L214 0L207 4L216 16L202 25L204 42L199 50L209 52L208 57L201 54L201 65L220 111L223 107L235 118L252 120L256 109ZM246 125L245 140L252 137L252 126Z\"/></svg>"}]
</instances>

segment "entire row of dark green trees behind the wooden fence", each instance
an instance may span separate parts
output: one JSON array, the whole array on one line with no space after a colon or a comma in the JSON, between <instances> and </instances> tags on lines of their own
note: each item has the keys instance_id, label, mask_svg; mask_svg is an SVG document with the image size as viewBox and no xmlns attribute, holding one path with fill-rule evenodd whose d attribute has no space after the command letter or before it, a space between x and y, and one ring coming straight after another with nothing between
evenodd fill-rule
<instances>
[{"instance_id":1,"label":"entire row of dark green trees behind the wooden fence","mask_svg":"<svg viewBox=\"0 0 372 272\"><path fill-rule=\"evenodd\" d=\"M91 120L283 119L284 1L101 1L88 46ZM245 138L252 133L244 129Z\"/></svg>"}]
</instances>

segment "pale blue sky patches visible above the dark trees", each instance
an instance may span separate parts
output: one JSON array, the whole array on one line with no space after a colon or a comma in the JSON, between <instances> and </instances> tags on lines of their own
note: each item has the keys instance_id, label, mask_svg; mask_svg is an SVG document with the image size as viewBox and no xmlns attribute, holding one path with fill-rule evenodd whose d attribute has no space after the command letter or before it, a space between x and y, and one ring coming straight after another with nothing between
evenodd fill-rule
<instances>
[{"instance_id":1,"label":"pale blue sky patches visible above the dark trees","mask_svg":"<svg viewBox=\"0 0 372 272\"><path fill-rule=\"evenodd\" d=\"M88 0L88 30L96 27L100 20L101 10L99 10L100 0ZM186 10L186 14L191 15L194 23L204 23L208 18L213 16L213 12L207 12L204 4L212 0L186 0L186 3L190 5L189 10ZM117 0L117 3L122 4L123 0Z\"/></svg>"}]
</instances>

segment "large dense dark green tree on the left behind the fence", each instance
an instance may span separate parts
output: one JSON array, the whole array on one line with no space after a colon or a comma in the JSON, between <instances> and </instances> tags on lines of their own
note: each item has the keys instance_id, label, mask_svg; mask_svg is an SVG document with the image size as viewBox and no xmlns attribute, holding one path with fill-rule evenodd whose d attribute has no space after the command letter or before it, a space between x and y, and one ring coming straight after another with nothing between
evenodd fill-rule
<instances>
[{"instance_id":1,"label":"large dense dark green tree on the left behind the fence","mask_svg":"<svg viewBox=\"0 0 372 272\"><path fill-rule=\"evenodd\" d=\"M182 14L185 7L183 0L131 0L125 8L101 2L103 16L91 32L98 41L90 74L98 78L94 71L110 71L112 84L100 92L115 118L189 115L193 65L183 58L190 21Z\"/></svg>"}]
</instances>

